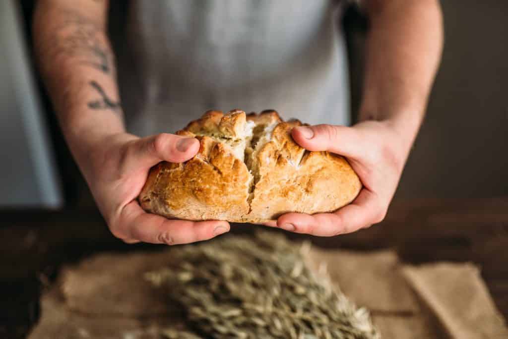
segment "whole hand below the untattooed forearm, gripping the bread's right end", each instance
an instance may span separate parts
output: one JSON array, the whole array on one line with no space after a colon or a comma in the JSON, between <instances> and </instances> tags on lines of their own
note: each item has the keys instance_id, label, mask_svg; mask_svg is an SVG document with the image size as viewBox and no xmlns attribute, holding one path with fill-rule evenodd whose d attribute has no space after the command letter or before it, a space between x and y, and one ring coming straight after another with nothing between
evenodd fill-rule
<instances>
[{"instance_id":1,"label":"whole hand below the untattooed forearm, gripping the bread's right end","mask_svg":"<svg viewBox=\"0 0 508 339\"><path fill-rule=\"evenodd\" d=\"M329 151L346 157L363 188L352 204L334 213L288 213L268 226L332 236L369 227L385 218L408 153L408 147L389 122L365 121L353 127L302 126L294 128L292 136L309 151Z\"/></svg>"}]
</instances>

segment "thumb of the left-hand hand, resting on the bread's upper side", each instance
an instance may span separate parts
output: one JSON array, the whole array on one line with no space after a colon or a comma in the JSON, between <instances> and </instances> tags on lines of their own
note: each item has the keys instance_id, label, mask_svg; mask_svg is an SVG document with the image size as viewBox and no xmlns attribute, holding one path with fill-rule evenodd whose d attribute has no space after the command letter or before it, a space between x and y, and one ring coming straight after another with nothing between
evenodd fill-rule
<instances>
[{"instance_id":1,"label":"thumb of the left-hand hand, resting on the bread's upper side","mask_svg":"<svg viewBox=\"0 0 508 339\"><path fill-rule=\"evenodd\" d=\"M133 156L129 159L134 166L151 167L161 161L187 161L198 153L199 141L196 138L161 133L139 139L130 147Z\"/></svg>"}]
</instances>

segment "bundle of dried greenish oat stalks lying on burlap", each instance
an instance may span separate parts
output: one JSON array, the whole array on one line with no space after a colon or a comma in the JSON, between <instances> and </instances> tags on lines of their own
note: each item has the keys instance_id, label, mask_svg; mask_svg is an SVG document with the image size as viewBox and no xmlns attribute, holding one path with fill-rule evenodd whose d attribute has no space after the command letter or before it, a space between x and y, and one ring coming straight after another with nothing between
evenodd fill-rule
<instances>
[{"instance_id":1,"label":"bundle of dried greenish oat stalks lying on burlap","mask_svg":"<svg viewBox=\"0 0 508 339\"><path fill-rule=\"evenodd\" d=\"M309 269L304 249L271 232L225 236L175 249L174 265L146 277L165 287L206 337L378 338L368 312Z\"/></svg>"}]
</instances>

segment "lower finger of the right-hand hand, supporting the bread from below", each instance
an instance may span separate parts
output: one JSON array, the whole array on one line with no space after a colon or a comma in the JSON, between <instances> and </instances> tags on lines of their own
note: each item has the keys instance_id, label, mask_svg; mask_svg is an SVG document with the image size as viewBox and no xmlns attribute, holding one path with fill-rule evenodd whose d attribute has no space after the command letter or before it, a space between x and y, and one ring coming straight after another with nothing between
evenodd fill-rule
<instances>
[{"instance_id":1,"label":"lower finger of the right-hand hand, supporting the bread from below","mask_svg":"<svg viewBox=\"0 0 508 339\"><path fill-rule=\"evenodd\" d=\"M288 213L277 220L277 226L297 233L332 236L351 233L379 222L380 214L382 212L376 195L363 189L352 204L342 207L335 213L314 215Z\"/></svg>"}]
</instances>

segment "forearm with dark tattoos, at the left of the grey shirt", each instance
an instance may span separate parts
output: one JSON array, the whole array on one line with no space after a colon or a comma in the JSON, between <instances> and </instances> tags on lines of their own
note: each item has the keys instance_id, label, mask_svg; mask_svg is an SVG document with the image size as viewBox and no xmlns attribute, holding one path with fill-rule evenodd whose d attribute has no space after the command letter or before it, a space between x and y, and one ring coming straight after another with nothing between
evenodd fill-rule
<instances>
[{"instance_id":1,"label":"forearm with dark tattoos, at the left of the grey shirt","mask_svg":"<svg viewBox=\"0 0 508 339\"><path fill-rule=\"evenodd\" d=\"M93 2L74 8L55 3L37 6L35 49L62 132L82 167L94 145L124 131L114 57L104 11Z\"/></svg>"}]
</instances>

